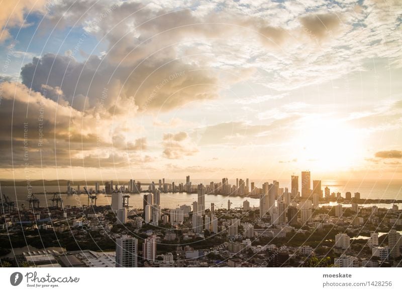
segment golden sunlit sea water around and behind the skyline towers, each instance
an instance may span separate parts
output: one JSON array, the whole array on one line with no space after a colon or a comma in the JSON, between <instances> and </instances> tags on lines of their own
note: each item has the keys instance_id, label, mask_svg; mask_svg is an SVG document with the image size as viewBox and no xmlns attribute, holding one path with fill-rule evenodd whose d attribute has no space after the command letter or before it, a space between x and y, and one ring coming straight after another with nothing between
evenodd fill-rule
<instances>
[{"instance_id":1,"label":"golden sunlit sea water around and behind the skyline towers","mask_svg":"<svg viewBox=\"0 0 402 292\"><path fill-rule=\"evenodd\" d=\"M72 187L77 187L72 185ZM127 186L126 186L127 187ZM257 185L257 187L260 187ZM285 188L289 187L286 184L281 184L280 187ZM340 192L343 197L345 197L346 192L351 192L352 196L355 192L360 193L360 197L362 199L394 199L394 200L402 200L402 180L393 180L393 181L322 181L322 188L325 187L330 188L332 192ZM94 189L94 186L87 186L87 188ZM100 186L100 189L103 189L104 186ZM143 188L147 188L147 186L143 186ZM62 193L61 198L63 199L64 205L70 206L82 206L87 205L88 198L85 193L81 193L79 195L67 195L63 194L67 190L67 186L37 186L32 187L31 192L35 194L35 196L39 199L39 205L41 207L51 206L52 202L50 201L53 198L55 193ZM81 186L81 191L83 188ZM27 187L18 186L18 187L0 187L0 195L1 199L4 200L4 195L8 196L11 201L15 202L16 206L20 208L24 204L28 207L28 199L29 199L29 191ZM143 207L143 194L130 194L129 206L131 208L140 208ZM112 198L110 196L106 196L105 194L97 194L96 205L110 205ZM197 194L187 194L187 193L161 193L160 196L160 205L162 208L176 208L181 205L191 205L192 202L197 200ZM243 202L248 200L250 203L250 207L258 207L259 199L253 199L248 197L240 197L240 196L222 196L222 195L206 195L205 201L206 206L210 206L211 203L214 203L216 208L227 208L228 200L231 202L231 208L238 208L243 206ZM1 201L0 201L1 202ZM331 202L329 204L323 205L332 205L336 204L335 202ZM390 208L389 204L362 204L363 206L372 206L376 205L379 208ZM398 204L399 208L402 208L402 204ZM345 205L347 207L347 205Z\"/></svg>"}]
</instances>

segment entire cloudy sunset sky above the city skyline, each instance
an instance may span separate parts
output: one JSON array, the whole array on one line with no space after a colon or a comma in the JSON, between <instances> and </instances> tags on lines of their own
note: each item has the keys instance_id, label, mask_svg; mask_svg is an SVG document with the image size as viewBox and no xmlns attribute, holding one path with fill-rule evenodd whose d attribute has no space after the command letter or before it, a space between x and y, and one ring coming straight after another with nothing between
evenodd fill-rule
<instances>
[{"instance_id":1,"label":"entire cloudy sunset sky above the city skyline","mask_svg":"<svg viewBox=\"0 0 402 292\"><path fill-rule=\"evenodd\" d=\"M402 179L398 0L0 6L2 179Z\"/></svg>"}]
</instances>

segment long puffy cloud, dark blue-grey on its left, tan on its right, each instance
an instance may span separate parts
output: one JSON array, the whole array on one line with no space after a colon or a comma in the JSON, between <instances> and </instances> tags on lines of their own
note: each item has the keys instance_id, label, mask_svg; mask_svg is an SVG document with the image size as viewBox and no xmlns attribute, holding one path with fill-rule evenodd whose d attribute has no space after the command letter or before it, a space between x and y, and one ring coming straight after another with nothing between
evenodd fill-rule
<instances>
[{"instance_id":1,"label":"long puffy cloud, dark blue-grey on its left, tan on its right","mask_svg":"<svg viewBox=\"0 0 402 292\"><path fill-rule=\"evenodd\" d=\"M196 67L181 61L148 60L130 68L116 67L109 61L92 56L79 63L66 56L45 54L22 68L22 82L37 92L43 86L57 88L81 111L98 105L105 90L108 98L103 104L110 113L127 110L127 104L132 110L168 111L187 102L218 97L216 77L194 71Z\"/></svg>"}]
</instances>

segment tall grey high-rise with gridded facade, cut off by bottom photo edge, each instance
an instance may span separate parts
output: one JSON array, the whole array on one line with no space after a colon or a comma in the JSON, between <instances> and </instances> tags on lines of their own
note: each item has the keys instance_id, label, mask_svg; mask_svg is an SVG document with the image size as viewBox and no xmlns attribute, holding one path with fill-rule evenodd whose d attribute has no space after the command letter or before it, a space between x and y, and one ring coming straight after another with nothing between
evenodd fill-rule
<instances>
[{"instance_id":1,"label":"tall grey high-rise with gridded facade, cut off by bottom photo edge","mask_svg":"<svg viewBox=\"0 0 402 292\"><path fill-rule=\"evenodd\" d=\"M116 267L137 267L138 240L128 235L116 239Z\"/></svg>"}]
</instances>

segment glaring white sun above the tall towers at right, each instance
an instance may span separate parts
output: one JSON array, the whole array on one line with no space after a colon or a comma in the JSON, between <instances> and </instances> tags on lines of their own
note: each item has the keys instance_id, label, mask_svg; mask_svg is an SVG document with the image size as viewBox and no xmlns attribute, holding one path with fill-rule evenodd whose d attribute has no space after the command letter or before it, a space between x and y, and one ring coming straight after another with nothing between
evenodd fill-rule
<instances>
[{"instance_id":1,"label":"glaring white sun above the tall towers at right","mask_svg":"<svg viewBox=\"0 0 402 292\"><path fill-rule=\"evenodd\" d=\"M346 171L358 166L363 134L343 120L307 122L298 135L298 161L314 171Z\"/></svg>"}]
</instances>

